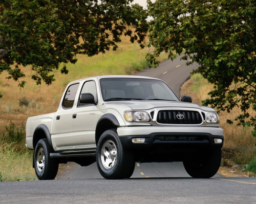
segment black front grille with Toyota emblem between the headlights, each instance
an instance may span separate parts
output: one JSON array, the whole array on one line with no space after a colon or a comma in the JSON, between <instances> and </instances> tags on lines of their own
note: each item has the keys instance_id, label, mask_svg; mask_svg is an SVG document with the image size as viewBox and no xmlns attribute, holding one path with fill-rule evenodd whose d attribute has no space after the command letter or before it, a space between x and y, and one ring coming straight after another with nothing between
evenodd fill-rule
<instances>
[{"instance_id":1,"label":"black front grille with Toyota emblem between the headlights","mask_svg":"<svg viewBox=\"0 0 256 204\"><path fill-rule=\"evenodd\" d=\"M156 122L162 124L197 125L202 123L202 117L197 111L158 111Z\"/></svg>"}]
</instances>

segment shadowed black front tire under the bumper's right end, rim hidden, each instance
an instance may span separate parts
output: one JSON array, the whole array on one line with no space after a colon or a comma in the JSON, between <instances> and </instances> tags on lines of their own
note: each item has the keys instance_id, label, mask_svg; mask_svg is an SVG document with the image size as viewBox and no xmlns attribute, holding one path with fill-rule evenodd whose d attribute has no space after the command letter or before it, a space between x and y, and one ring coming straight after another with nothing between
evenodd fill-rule
<instances>
[{"instance_id":1,"label":"shadowed black front tire under the bumper's right end, rim hidden","mask_svg":"<svg viewBox=\"0 0 256 204\"><path fill-rule=\"evenodd\" d=\"M213 177L221 163L221 149L213 149L208 154L208 160L204 161L184 161L183 165L187 173L193 178Z\"/></svg>"}]
</instances>

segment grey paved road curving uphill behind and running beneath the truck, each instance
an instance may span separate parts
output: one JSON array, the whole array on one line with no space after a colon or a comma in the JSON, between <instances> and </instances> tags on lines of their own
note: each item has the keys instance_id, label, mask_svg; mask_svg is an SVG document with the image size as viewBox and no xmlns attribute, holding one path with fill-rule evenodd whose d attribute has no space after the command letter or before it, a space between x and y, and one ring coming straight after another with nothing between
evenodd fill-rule
<instances>
[{"instance_id":1,"label":"grey paved road curving uphill behind and running beneath the truck","mask_svg":"<svg viewBox=\"0 0 256 204\"><path fill-rule=\"evenodd\" d=\"M194 66L194 67L193 67ZM158 69L137 75L163 79L179 94L181 84L196 65L185 66L179 58ZM256 178L221 177L193 179L182 163L136 164L130 179L106 180L96 164L60 167L57 180L0 182L0 204L255 204Z\"/></svg>"}]
</instances>

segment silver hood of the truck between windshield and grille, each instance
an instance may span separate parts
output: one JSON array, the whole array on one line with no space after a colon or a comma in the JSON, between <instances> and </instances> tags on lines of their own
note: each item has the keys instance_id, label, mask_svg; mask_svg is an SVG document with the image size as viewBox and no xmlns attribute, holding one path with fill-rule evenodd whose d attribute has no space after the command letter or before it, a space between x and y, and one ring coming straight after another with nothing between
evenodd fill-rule
<instances>
[{"instance_id":1,"label":"silver hood of the truck between windshield and grille","mask_svg":"<svg viewBox=\"0 0 256 204\"><path fill-rule=\"evenodd\" d=\"M203 111L214 111L214 109L205 107L205 106L198 106L194 103L187 103L187 102L180 102L180 101L110 101L108 104L112 105L126 105L129 106L132 110L150 110L153 108L161 108L161 107L168 107L168 108L195 108L200 109ZM215 112L215 111L214 111Z\"/></svg>"}]
</instances>

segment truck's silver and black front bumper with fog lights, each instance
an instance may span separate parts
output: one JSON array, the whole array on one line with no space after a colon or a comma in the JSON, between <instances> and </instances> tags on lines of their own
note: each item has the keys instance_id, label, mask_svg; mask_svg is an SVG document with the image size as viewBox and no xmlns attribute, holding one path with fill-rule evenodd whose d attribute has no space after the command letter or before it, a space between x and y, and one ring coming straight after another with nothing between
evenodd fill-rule
<instances>
[{"instance_id":1,"label":"truck's silver and black front bumper with fog lights","mask_svg":"<svg viewBox=\"0 0 256 204\"><path fill-rule=\"evenodd\" d=\"M123 127L117 133L126 149L213 149L222 148L224 141L224 131L212 127ZM132 138L145 138L145 142L132 143Z\"/></svg>"}]
</instances>

